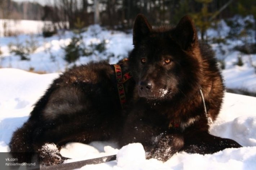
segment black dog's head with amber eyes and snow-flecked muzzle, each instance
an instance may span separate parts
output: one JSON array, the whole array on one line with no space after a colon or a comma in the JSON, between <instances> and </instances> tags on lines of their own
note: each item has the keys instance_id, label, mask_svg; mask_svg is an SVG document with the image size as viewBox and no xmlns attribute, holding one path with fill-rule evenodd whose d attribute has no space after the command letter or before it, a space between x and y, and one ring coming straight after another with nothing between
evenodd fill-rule
<instances>
[{"instance_id":1,"label":"black dog's head with amber eyes and snow-flecked muzzle","mask_svg":"<svg viewBox=\"0 0 256 170\"><path fill-rule=\"evenodd\" d=\"M140 97L168 100L198 90L202 58L189 17L183 17L175 28L153 29L139 14L133 26L133 45L129 68Z\"/></svg>"}]
</instances>

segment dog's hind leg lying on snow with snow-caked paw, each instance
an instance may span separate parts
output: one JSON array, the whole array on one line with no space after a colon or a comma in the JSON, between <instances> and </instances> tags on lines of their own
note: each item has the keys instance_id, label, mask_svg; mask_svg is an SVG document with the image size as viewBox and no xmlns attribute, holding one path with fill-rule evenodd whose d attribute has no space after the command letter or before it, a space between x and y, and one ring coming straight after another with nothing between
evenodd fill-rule
<instances>
[{"instance_id":1,"label":"dog's hind leg lying on snow with snow-caked paw","mask_svg":"<svg viewBox=\"0 0 256 170\"><path fill-rule=\"evenodd\" d=\"M85 122L87 121L85 120ZM93 123L93 121L90 122ZM54 126L45 125L36 128L33 135L33 146L34 150L40 153L40 163L46 166L63 163L66 158L61 156L59 151L67 142L89 143L91 141L103 141L108 138L103 134L104 132L108 133L109 129L107 127L102 125L90 127L92 125L89 125L89 127L83 126L79 122L74 122L74 119L70 119L69 122L63 124L55 123Z\"/></svg>"}]
</instances>

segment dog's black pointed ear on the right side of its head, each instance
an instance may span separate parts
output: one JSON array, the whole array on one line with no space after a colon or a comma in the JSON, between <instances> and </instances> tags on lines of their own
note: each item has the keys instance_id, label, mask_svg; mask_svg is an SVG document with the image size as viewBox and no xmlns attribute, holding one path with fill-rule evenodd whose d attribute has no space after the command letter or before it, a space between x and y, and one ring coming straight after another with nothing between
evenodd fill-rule
<instances>
[{"instance_id":1,"label":"dog's black pointed ear on the right side of its head","mask_svg":"<svg viewBox=\"0 0 256 170\"><path fill-rule=\"evenodd\" d=\"M189 47L194 47L197 44L197 31L189 16L186 15L181 18L172 37L183 50L187 50Z\"/></svg>"}]
</instances>

